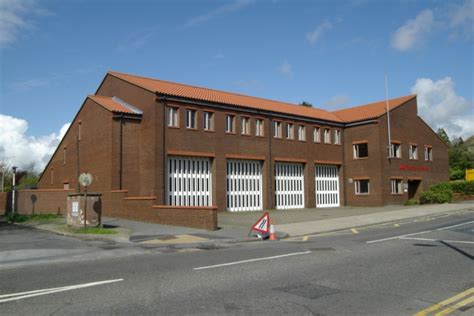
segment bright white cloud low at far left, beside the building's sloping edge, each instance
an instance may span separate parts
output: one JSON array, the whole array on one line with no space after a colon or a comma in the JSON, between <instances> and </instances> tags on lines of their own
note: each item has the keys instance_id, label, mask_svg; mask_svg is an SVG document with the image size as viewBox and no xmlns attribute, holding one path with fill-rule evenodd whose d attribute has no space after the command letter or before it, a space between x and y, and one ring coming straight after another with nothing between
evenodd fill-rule
<instances>
[{"instance_id":1,"label":"bright white cloud low at far left, beside the building's sloping edge","mask_svg":"<svg viewBox=\"0 0 474 316\"><path fill-rule=\"evenodd\" d=\"M28 136L27 121L0 114L0 160L20 169L42 172L69 126L70 123L64 124L59 133Z\"/></svg>"}]
</instances>

